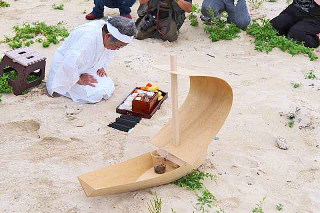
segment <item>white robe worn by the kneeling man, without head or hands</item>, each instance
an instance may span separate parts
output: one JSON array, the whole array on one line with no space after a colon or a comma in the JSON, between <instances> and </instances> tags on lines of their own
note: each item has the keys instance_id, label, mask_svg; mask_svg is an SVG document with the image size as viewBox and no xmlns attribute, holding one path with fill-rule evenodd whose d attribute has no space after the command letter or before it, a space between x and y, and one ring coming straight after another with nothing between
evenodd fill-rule
<instances>
[{"instance_id":1,"label":"white robe worn by the kneeling man, without head or hands","mask_svg":"<svg viewBox=\"0 0 320 213\"><path fill-rule=\"evenodd\" d=\"M107 99L114 90L110 77L99 77L96 71L110 64L114 50L103 45L103 20L91 21L74 28L63 44L53 54L46 88L71 98L75 102L96 103ZM98 83L79 85L79 75L89 73Z\"/></svg>"}]
</instances>

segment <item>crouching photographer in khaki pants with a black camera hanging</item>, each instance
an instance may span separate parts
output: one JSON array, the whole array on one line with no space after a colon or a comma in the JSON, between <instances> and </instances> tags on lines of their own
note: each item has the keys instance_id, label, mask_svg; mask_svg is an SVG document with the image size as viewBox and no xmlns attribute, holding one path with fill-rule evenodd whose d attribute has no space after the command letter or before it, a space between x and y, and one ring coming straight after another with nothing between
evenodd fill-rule
<instances>
[{"instance_id":1,"label":"crouching photographer in khaki pants with a black camera hanging","mask_svg":"<svg viewBox=\"0 0 320 213\"><path fill-rule=\"evenodd\" d=\"M161 38L174 41L185 19L185 12L191 12L192 0L139 0L136 21L137 39Z\"/></svg>"}]
</instances>

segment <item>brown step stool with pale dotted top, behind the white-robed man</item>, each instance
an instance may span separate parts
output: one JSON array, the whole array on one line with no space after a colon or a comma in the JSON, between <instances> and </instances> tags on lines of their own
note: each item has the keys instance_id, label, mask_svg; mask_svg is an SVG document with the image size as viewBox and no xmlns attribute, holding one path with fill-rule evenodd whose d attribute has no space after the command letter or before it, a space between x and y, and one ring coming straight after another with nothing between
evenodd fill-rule
<instances>
[{"instance_id":1,"label":"brown step stool with pale dotted top, behind the white-robed man","mask_svg":"<svg viewBox=\"0 0 320 213\"><path fill-rule=\"evenodd\" d=\"M17 78L15 80L7 78L7 81L12 86L15 95L22 94L22 91L41 83L41 80L44 79L45 59L43 55L29 47L6 51L0 63L0 75L14 69L17 72ZM38 79L28 82L26 78L29 74L38 76Z\"/></svg>"}]
</instances>

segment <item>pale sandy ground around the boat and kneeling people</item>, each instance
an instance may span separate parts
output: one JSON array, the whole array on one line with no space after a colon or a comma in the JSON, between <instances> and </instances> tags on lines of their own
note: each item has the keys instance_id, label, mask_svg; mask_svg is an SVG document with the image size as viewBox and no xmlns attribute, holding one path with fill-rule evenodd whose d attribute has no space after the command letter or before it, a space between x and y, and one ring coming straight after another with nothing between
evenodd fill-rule
<instances>
[{"instance_id":1,"label":"pale sandy ground around the boat and kneeling people","mask_svg":"<svg viewBox=\"0 0 320 213\"><path fill-rule=\"evenodd\" d=\"M89 12L93 5L91 0L65 0L60 11L51 4L61 0L8 2L11 7L0 9L0 38L23 21L55 24L64 20L71 29L86 22L82 11ZM133 18L137 6L132 8ZM254 13L271 18L284 7L284 0L264 2ZM118 11L106 9L104 14ZM170 117L169 99L129 134L107 124L119 115L115 108L133 87L151 82L170 92L169 75L148 66L167 63L170 53L178 55L181 66L210 72L233 89L231 112L200 167L218 176L217 184L205 181L218 199L216 204L226 212L251 212L266 195L264 212L276 212L278 202L285 206L282 212L320 212L320 81L304 79L310 69L320 76L320 62L277 49L269 54L257 52L251 41L241 32L233 41L211 43L201 25L192 27L186 20L175 42L134 40L116 53L108 67L116 87L108 100L79 106L65 97L47 96L44 83L26 95L4 94L0 103L0 212L147 212L146 202L155 191L162 197L162 212L170 212L171 207L179 213L201 212L191 191L172 184L88 198L76 178L154 148L148 141ZM47 57L47 70L58 45L31 46ZM9 47L0 44L0 55L6 50ZM189 83L186 77L178 80L182 104ZM302 86L294 89L292 82ZM68 118L66 112L77 107L82 110ZM289 128L288 119L279 113L296 107L300 110ZM78 122L84 126L76 127ZM288 150L275 146L278 135L287 139Z\"/></svg>"}]
</instances>

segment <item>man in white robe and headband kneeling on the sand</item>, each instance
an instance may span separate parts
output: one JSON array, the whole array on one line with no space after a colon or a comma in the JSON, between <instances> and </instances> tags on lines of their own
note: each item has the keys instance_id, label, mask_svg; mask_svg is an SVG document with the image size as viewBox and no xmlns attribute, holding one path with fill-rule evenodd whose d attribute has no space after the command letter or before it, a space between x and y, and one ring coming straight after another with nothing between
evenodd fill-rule
<instances>
[{"instance_id":1,"label":"man in white robe and headband kneeling on the sand","mask_svg":"<svg viewBox=\"0 0 320 213\"><path fill-rule=\"evenodd\" d=\"M46 87L76 102L96 103L114 90L106 67L114 50L127 45L136 33L134 22L126 17L109 17L73 29L55 51Z\"/></svg>"}]
</instances>

